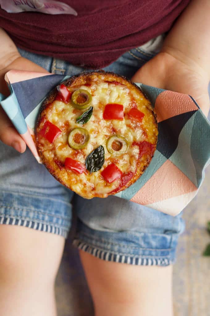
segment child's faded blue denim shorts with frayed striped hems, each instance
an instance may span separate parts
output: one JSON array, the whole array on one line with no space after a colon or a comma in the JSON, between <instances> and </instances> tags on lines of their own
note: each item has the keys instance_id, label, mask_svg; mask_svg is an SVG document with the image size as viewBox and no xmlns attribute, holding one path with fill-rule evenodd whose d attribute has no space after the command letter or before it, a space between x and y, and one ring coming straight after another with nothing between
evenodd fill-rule
<instances>
[{"instance_id":1,"label":"child's faded blue denim shorts with frayed striped hems","mask_svg":"<svg viewBox=\"0 0 210 316\"><path fill-rule=\"evenodd\" d=\"M151 49L152 48L152 49ZM63 60L19 50L49 72L87 71ZM131 78L157 52L155 41L132 49L104 70ZM19 154L0 142L0 223L67 236L72 208L77 216L73 244L107 261L166 266L174 262L181 214L169 216L119 197L86 200L57 182L29 149Z\"/></svg>"}]
</instances>

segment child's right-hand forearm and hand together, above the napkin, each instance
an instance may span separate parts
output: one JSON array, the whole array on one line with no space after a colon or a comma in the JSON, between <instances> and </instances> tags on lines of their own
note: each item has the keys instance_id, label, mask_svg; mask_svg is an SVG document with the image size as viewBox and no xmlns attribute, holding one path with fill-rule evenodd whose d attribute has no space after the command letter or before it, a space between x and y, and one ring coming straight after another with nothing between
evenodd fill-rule
<instances>
[{"instance_id":1,"label":"child's right-hand forearm and hand together, above the napkin","mask_svg":"<svg viewBox=\"0 0 210 316\"><path fill-rule=\"evenodd\" d=\"M133 76L134 82L190 94L209 111L210 2L191 0L164 40L162 52Z\"/></svg>"}]
</instances>

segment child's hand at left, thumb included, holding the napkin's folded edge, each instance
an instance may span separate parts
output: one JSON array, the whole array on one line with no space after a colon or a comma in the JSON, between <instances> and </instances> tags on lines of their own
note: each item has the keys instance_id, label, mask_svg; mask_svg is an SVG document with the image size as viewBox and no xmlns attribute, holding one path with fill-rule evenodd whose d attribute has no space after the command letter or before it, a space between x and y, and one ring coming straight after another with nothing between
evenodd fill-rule
<instances>
[{"instance_id":1,"label":"child's hand at left, thumb included, holding the napkin's folded edge","mask_svg":"<svg viewBox=\"0 0 210 316\"><path fill-rule=\"evenodd\" d=\"M3 64L3 63L2 63ZM4 80L4 75L7 71L16 70L28 70L36 72L46 72L47 70L32 63L30 60L20 57L19 53L15 56L15 59L7 65L7 67L0 69L0 92L4 95L9 95L9 90ZM12 122L0 106L0 140L6 145L14 147L20 153L26 150L26 143L20 137L16 129L14 128Z\"/></svg>"}]
</instances>

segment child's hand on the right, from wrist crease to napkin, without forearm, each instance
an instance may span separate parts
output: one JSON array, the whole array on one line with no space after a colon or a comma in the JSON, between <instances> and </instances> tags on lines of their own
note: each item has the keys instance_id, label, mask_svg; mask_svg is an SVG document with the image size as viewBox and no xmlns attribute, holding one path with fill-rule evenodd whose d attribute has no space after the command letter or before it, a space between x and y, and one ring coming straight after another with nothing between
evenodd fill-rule
<instances>
[{"instance_id":1,"label":"child's hand on the right, from wrist crease to napkin, without forearm","mask_svg":"<svg viewBox=\"0 0 210 316\"><path fill-rule=\"evenodd\" d=\"M205 69L188 58L160 52L132 77L133 82L141 82L157 88L190 94L207 116L209 111L209 75Z\"/></svg>"}]
</instances>

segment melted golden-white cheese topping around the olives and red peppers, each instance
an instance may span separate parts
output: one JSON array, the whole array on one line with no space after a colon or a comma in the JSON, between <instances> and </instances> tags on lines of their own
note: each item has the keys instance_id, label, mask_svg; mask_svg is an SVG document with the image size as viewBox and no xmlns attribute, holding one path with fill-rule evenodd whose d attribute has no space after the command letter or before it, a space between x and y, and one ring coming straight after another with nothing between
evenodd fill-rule
<instances>
[{"instance_id":1,"label":"melted golden-white cheese topping around the olives and red peppers","mask_svg":"<svg viewBox=\"0 0 210 316\"><path fill-rule=\"evenodd\" d=\"M38 137L39 148L41 148L44 160L52 169L57 170L56 176L63 184L71 188L73 191L86 198L95 196L106 197L108 193L117 189L120 184L120 179L113 183L107 183L101 172L111 163L123 172L136 173L137 167L143 168L144 161L138 165L139 147L132 146L134 141L147 142L156 144L157 129L154 125L154 116L150 110L150 102L135 89L128 89L126 85L115 85L111 82L105 82L102 79L95 80L91 86L69 87L70 91L77 89L87 90L92 95L92 102L89 106L93 106L93 114L89 121L80 125L76 123L76 119L85 110L76 109L71 102L66 104L59 100L54 100L42 112L42 120L38 129L42 129L44 123L48 120L60 128L62 134L57 137L53 144L49 143L44 137ZM132 102L137 103L139 111L145 114L142 122L139 123L129 118L126 113L132 108ZM120 120L104 120L103 112L105 105L108 103L118 103L123 105L124 119ZM69 133L75 127L84 127L88 130L90 140L88 145L82 150L72 149L67 142ZM114 134L122 135L128 140L129 147L125 154L116 156L110 154L106 148L107 139ZM86 157L99 145L102 145L105 150L105 162L103 167L93 173L77 174L66 168L61 170L54 162L59 160L64 164L66 157L70 157L85 164Z\"/></svg>"}]
</instances>

